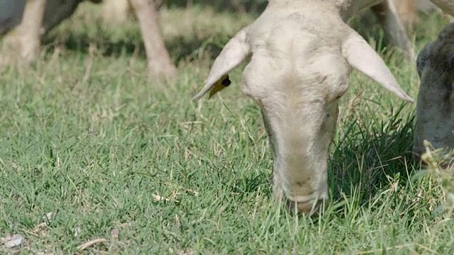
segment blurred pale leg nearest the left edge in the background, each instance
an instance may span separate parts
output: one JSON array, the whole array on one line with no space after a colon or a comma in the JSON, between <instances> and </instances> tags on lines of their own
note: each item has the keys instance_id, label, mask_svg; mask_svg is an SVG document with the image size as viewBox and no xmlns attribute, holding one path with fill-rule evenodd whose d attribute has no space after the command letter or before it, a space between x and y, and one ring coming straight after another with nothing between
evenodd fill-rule
<instances>
[{"instance_id":1,"label":"blurred pale leg nearest the left edge in the background","mask_svg":"<svg viewBox=\"0 0 454 255\"><path fill-rule=\"evenodd\" d=\"M46 0L27 0L22 21L17 28L17 43L21 60L26 63L37 59Z\"/></svg>"}]
</instances>

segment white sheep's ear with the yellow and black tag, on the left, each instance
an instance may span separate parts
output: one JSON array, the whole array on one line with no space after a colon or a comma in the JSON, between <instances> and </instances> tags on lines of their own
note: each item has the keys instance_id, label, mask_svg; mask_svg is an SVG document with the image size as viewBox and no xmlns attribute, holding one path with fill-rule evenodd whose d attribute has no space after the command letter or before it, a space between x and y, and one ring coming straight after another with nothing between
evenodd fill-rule
<instances>
[{"instance_id":1,"label":"white sheep's ear with the yellow and black tag, on the left","mask_svg":"<svg viewBox=\"0 0 454 255\"><path fill-rule=\"evenodd\" d=\"M245 57L248 57L249 54L250 45L248 44L248 31L247 28L243 28L243 30L240 30L240 32L227 42L226 46L221 51L221 54L216 57L208 78L206 78L204 87L199 94L196 94L192 99L199 100L199 98L204 96L204 94L206 94L217 81L220 81L225 74L243 62Z\"/></svg>"}]
</instances>

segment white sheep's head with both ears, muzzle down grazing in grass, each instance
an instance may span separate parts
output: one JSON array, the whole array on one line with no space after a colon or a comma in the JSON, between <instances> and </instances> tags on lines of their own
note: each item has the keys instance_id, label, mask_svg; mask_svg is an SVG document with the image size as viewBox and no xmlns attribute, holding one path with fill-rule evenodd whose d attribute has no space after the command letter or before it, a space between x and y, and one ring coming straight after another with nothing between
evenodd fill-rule
<instances>
[{"instance_id":1,"label":"white sheep's head with both ears, muzzle down grazing in grass","mask_svg":"<svg viewBox=\"0 0 454 255\"><path fill-rule=\"evenodd\" d=\"M251 55L241 89L262 110L274 157L273 193L309 215L328 197L328 148L350 66L412 101L339 12L334 1L270 1L227 43L194 97Z\"/></svg>"}]
</instances>

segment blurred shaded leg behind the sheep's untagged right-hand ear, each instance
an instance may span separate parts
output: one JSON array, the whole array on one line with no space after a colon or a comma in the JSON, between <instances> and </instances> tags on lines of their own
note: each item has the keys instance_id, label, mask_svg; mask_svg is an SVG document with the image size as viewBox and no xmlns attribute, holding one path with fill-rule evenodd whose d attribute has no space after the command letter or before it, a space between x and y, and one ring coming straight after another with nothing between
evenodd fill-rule
<instances>
[{"instance_id":1,"label":"blurred shaded leg behind the sheep's untagged right-hand ear","mask_svg":"<svg viewBox=\"0 0 454 255\"><path fill-rule=\"evenodd\" d=\"M379 19L385 35L389 38L389 42L404 50L407 59L413 61L415 59L413 45L406 34L404 25L392 0L383 1L382 4L372 6L372 11Z\"/></svg>"}]
</instances>

